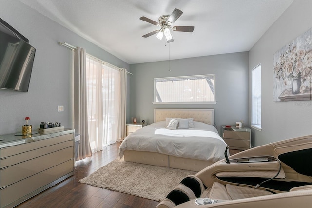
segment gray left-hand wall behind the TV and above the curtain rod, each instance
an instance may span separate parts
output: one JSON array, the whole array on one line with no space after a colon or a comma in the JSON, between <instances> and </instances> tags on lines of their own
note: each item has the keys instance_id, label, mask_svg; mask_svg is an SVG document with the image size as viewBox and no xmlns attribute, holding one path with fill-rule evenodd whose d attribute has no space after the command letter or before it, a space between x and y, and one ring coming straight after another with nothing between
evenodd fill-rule
<instances>
[{"instance_id":1,"label":"gray left-hand wall behind the TV and above the curtain rod","mask_svg":"<svg viewBox=\"0 0 312 208\"><path fill-rule=\"evenodd\" d=\"M72 126L72 52L58 42L83 47L103 61L129 69L126 62L20 1L1 0L0 4L1 18L37 49L29 92L0 89L0 135L21 132L26 116L31 117L33 128L38 128L41 121L59 121L65 127ZM58 105L64 105L64 112L58 112Z\"/></svg>"}]
</instances>

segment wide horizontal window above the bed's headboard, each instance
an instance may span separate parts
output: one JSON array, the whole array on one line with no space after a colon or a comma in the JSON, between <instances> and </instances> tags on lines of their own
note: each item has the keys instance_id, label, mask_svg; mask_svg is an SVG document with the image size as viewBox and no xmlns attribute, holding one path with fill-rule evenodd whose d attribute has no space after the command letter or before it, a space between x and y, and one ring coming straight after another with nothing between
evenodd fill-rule
<instances>
[{"instance_id":1,"label":"wide horizontal window above the bed's headboard","mask_svg":"<svg viewBox=\"0 0 312 208\"><path fill-rule=\"evenodd\" d=\"M154 104L215 104L215 75L154 79Z\"/></svg>"}]
</instances>

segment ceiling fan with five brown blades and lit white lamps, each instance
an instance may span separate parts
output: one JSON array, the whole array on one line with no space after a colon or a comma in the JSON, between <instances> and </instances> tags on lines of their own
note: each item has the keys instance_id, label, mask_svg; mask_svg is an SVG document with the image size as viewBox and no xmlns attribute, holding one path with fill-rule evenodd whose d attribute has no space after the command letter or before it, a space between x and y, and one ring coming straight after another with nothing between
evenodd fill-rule
<instances>
[{"instance_id":1,"label":"ceiling fan with five brown blades and lit white lamps","mask_svg":"<svg viewBox=\"0 0 312 208\"><path fill-rule=\"evenodd\" d=\"M158 22L153 21L147 17L140 17L140 20L146 21L148 23L154 24L159 26L160 29L150 32L148 34L143 35L142 37L147 38L151 35L157 33L157 38L161 40L165 35L167 42L173 42L174 39L171 35L170 29L172 31L179 31L179 32L193 32L194 26L172 26L172 24L182 15L182 11L179 9L174 9L171 15L162 15L158 18Z\"/></svg>"}]
</instances>

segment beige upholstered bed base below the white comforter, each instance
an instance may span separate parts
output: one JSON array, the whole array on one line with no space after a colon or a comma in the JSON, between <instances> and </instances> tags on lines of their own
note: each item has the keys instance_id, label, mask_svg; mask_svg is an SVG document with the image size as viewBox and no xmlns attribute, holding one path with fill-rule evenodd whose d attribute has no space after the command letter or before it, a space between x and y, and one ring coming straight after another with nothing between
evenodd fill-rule
<instances>
[{"instance_id":1,"label":"beige upholstered bed base below the white comforter","mask_svg":"<svg viewBox=\"0 0 312 208\"><path fill-rule=\"evenodd\" d=\"M206 160L170 156L157 152L141 152L134 150L125 150L123 157L124 160L128 162L143 163L153 166L171 167L183 170L192 170L196 172L215 163Z\"/></svg>"}]
</instances>

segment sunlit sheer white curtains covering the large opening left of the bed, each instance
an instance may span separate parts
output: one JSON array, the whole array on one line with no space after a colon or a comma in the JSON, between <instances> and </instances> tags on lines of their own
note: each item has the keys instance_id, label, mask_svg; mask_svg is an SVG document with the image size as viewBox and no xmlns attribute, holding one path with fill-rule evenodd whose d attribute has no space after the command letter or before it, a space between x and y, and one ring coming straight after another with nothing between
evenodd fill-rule
<instances>
[{"instance_id":1,"label":"sunlit sheer white curtains covering the large opening left of the bed","mask_svg":"<svg viewBox=\"0 0 312 208\"><path fill-rule=\"evenodd\" d=\"M87 55L88 129L92 152L121 141L125 133L125 70Z\"/></svg>"}]
</instances>

